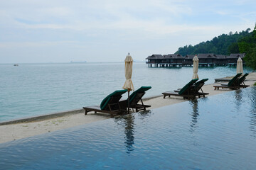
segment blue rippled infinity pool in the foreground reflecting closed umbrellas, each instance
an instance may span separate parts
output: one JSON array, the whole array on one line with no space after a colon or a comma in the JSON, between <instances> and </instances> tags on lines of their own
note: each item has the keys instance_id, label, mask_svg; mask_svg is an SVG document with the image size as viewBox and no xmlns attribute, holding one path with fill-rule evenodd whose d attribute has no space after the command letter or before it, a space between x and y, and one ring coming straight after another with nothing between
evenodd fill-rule
<instances>
[{"instance_id":1,"label":"blue rippled infinity pool in the foreground reflecting closed umbrellas","mask_svg":"<svg viewBox=\"0 0 256 170\"><path fill-rule=\"evenodd\" d=\"M0 169L255 169L256 88L0 145Z\"/></svg>"}]
</instances>

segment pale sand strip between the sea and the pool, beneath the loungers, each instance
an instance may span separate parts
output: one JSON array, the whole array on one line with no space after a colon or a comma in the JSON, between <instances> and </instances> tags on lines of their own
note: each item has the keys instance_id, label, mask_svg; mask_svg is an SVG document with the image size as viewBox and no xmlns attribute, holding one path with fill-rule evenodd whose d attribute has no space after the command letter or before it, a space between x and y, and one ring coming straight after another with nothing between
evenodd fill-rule
<instances>
[{"instance_id":1,"label":"pale sand strip between the sea and the pool, beneath the loungers","mask_svg":"<svg viewBox=\"0 0 256 170\"><path fill-rule=\"evenodd\" d=\"M252 72L247 76L245 84L253 86L256 82L256 72ZM221 84L222 82L214 84L206 84L203 86L203 91L209 93L208 96L222 94L230 89L214 90L213 85ZM167 89L173 91L174 89ZM163 91L164 92L164 91ZM159 108L163 106L169 106L175 103L181 103L184 101L182 97L171 96L171 98L163 98L162 95L151 96L143 98L146 105L151 105L150 108ZM85 115L84 110L75 109L71 111L62 111L58 113L48 113L44 115L38 115L28 118L21 118L16 120L9 120L0 123L0 143L10 142L12 140L19 140L26 137L35 135L41 135L47 132L53 132L55 130L63 130L65 128L72 128L77 125L83 125L86 123L92 123L99 120L105 120L111 118L109 114L90 112Z\"/></svg>"}]
</instances>

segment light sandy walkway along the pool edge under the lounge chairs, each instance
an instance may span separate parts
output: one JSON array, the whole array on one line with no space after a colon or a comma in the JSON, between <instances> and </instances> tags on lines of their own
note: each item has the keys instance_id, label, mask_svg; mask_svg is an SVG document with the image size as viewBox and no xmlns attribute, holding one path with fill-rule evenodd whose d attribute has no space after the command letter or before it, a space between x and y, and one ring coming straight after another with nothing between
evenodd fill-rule
<instances>
[{"instance_id":1,"label":"light sandy walkway along the pool edge under the lounge chairs","mask_svg":"<svg viewBox=\"0 0 256 170\"><path fill-rule=\"evenodd\" d=\"M253 86L256 82L256 72L252 72L247 76L247 81L245 84ZM220 84L220 83L219 83ZM167 89L174 90L174 89ZM203 91L209 93L208 96L213 96L215 94L221 94L229 89L213 89L213 84L203 86ZM151 98L149 100L145 100L144 103L147 105L151 105L151 108L159 108L162 106L168 106L174 103L180 103L186 100L183 100L181 97L171 98L163 98L163 96L159 96L156 98ZM150 108L149 108L150 109ZM110 118L110 115L105 114L94 114L88 113L88 115L84 115L84 113L76 113L73 115L65 115L59 118L51 118L48 120L41 120L31 123L17 123L11 125L0 125L0 143L9 142L11 140L18 140L24 137L31 137L34 135L40 135L46 132L53 132L55 130L61 130L65 128L71 128L76 125L82 125L85 123L92 123L97 120L104 120Z\"/></svg>"}]
</instances>

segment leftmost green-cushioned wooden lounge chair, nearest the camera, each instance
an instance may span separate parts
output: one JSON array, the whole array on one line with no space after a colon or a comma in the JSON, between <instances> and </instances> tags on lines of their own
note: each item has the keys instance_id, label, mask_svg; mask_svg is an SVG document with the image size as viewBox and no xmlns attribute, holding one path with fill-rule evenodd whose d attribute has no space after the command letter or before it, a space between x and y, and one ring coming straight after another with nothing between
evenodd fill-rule
<instances>
[{"instance_id":1,"label":"leftmost green-cushioned wooden lounge chair, nearest the camera","mask_svg":"<svg viewBox=\"0 0 256 170\"><path fill-rule=\"evenodd\" d=\"M87 106L83 107L85 109L85 115L90 111L95 111L95 113L109 113L111 117L122 113L121 107L119 105L119 100L122 98L122 94L126 93L127 90L114 91L112 94L108 95L102 100L100 106Z\"/></svg>"}]
</instances>

